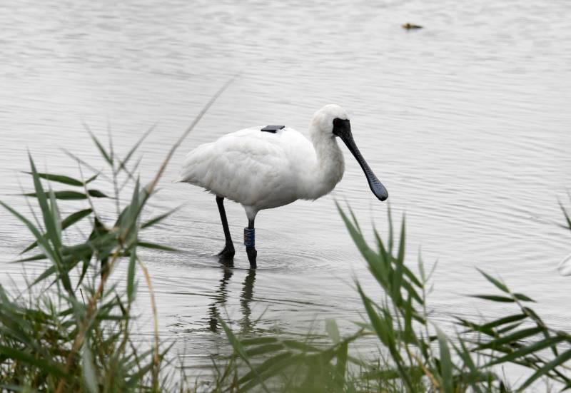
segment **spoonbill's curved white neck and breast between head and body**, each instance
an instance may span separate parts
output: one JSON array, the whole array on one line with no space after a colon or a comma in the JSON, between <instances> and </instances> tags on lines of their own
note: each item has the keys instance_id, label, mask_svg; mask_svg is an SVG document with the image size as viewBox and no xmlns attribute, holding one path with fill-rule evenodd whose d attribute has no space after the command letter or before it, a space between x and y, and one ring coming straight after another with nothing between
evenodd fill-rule
<instances>
[{"instance_id":1,"label":"spoonbill's curved white neck and breast between head and body","mask_svg":"<svg viewBox=\"0 0 571 393\"><path fill-rule=\"evenodd\" d=\"M308 170L304 199L317 199L330 193L343 177L345 160L335 139L311 133L315 161L312 170Z\"/></svg>"}]
</instances>

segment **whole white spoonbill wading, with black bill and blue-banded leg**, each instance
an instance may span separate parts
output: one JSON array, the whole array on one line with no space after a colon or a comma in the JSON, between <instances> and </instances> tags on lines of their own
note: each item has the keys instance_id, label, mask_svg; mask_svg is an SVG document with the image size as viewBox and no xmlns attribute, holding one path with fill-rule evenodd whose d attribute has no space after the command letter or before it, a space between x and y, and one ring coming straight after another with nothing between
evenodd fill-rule
<instances>
[{"instance_id":1,"label":"whole white spoonbill wading, with black bill and blue-banded leg","mask_svg":"<svg viewBox=\"0 0 571 393\"><path fill-rule=\"evenodd\" d=\"M235 250L223 200L241 203L248 217L244 245L256 268L254 220L260 210L288 205L295 200L315 200L330 193L345 170L343 152L335 137L353 153L367 177L370 190L380 199L388 193L360 154L347 112L327 105L313 116L310 138L285 126L246 128L192 150L184 160L178 182L191 183L216 195L226 245L218 254L232 261Z\"/></svg>"}]
</instances>

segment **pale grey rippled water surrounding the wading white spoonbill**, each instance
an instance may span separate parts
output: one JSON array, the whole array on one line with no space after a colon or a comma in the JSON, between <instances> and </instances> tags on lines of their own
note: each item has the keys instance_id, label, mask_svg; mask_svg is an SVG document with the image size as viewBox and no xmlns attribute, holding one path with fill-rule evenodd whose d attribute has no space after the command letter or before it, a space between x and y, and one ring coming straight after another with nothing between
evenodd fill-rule
<instances>
[{"instance_id":1,"label":"pale grey rippled water surrounding the wading white spoonbill","mask_svg":"<svg viewBox=\"0 0 571 393\"><path fill-rule=\"evenodd\" d=\"M304 130L325 103L350 111L393 214L406 213L410 262L420 248L429 267L438 260L430 295L437 320L480 314L481 303L463 296L492 291L479 267L567 327L569 279L556 265L571 250L568 231L555 225L557 198L571 185L567 2L225 3L3 1L2 199L26 211L14 196L19 183L31 186L19 173L28 168L26 149L56 173L77 173L59 148L97 162L82 122L102 138L110 126L123 152L157 123L142 148L149 180L204 103L239 72L176 153L151 206L158 213L182 205L148 240L183 252L145 259L161 335L177 340L189 365L206 367L209 354L227 349L216 312L242 332L322 332L325 318L351 332L363 310L354 279L378 295L333 198L350 203L365 231L374 222L385 233L386 204L370 194L348 152L332 195L258 215L256 272L241 249L235 269L216 264L223 233L213 196L170 183L198 144L256 124ZM401 29L408 21L425 29ZM239 240L246 216L240 205L226 210ZM21 267L8 262L29 235L5 211L0 217L1 282L17 286ZM145 296L139 306L144 338L152 329Z\"/></svg>"}]
</instances>

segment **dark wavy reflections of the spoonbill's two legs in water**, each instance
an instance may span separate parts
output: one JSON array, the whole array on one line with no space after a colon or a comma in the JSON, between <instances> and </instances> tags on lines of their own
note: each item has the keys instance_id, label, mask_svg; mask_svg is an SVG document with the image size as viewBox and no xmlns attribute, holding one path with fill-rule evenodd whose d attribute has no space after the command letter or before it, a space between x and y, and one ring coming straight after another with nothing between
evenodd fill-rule
<instances>
[{"instance_id":1,"label":"dark wavy reflections of the spoonbill's two legs in water","mask_svg":"<svg viewBox=\"0 0 571 393\"><path fill-rule=\"evenodd\" d=\"M234 272L231 267L225 266L223 268L223 276L220 280L220 285L218 285L214 302L208 307L208 327L211 332L220 331L221 326L220 322L218 322L218 318L223 315L221 314L221 310L226 307L226 302L228 301L228 282L230 282L233 274ZM256 282L256 269L250 269L242 282L242 292L240 295L242 317L239 320L239 324L241 332L249 332L252 328L250 316L252 314L251 302L254 294L254 282Z\"/></svg>"}]
</instances>

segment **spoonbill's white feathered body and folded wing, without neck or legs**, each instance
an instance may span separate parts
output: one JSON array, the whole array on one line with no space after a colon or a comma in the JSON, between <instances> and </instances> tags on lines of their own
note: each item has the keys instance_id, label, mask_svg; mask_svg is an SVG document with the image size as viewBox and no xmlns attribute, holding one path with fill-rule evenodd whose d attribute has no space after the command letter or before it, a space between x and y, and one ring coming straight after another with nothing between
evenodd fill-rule
<instances>
[{"instance_id":1,"label":"spoonbill's white feathered body and folded wing, without neck or legs","mask_svg":"<svg viewBox=\"0 0 571 393\"><path fill-rule=\"evenodd\" d=\"M298 183L315 160L313 145L298 131L246 128L205 143L186 156L181 179L213 194L258 209L298 199Z\"/></svg>"}]
</instances>

